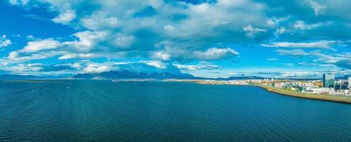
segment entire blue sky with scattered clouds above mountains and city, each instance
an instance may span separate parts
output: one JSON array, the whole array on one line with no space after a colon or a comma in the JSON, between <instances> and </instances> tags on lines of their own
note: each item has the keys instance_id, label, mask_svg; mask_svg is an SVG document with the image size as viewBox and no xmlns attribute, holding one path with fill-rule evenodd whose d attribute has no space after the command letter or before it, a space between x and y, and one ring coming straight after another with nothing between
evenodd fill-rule
<instances>
[{"instance_id":1,"label":"entire blue sky with scattered clouds above mountains and city","mask_svg":"<svg viewBox=\"0 0 351 142\"><path fill-rule=\"evenodd\" d=\"M0 1L0 74L351 75L348 0Z\"/></svg>"}]
</instances>

